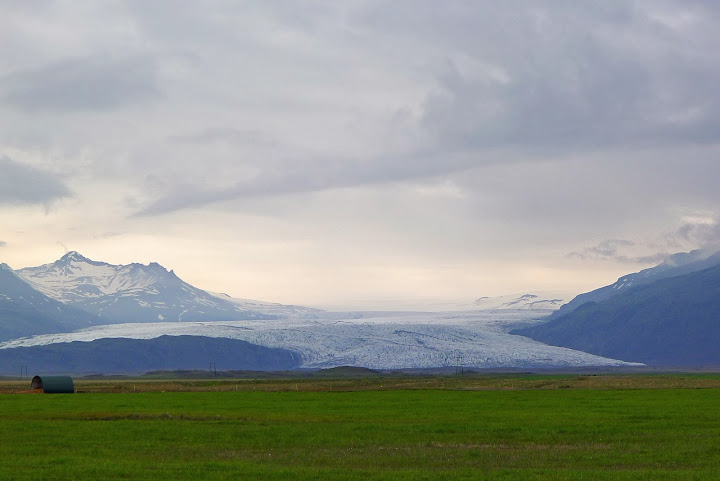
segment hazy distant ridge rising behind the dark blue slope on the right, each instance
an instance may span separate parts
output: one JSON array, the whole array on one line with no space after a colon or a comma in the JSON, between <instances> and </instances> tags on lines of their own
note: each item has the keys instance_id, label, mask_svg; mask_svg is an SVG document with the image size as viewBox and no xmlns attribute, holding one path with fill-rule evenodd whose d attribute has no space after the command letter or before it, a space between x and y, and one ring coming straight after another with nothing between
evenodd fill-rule
<instances>
[{"instance_id":1,"label":"hazy distant ridge rising behind the dark blue slope on the right","mask_svg":"<svg viewBox=\"0 0 720 481\"><path fill-rule=\"evenodd\" d=\"M576 296L567 304L562 305L560 309L553 312L549 319L556 319L568 314L588 302L604 301L632 287L650 284L668 277L676 277L701 271L718 264L720 264L720 252L709 255L706 252L694 250L692 252L673 254L655 267L643 269L634 274L627 274L609 286Z\"/></svg>"}]
</instances>

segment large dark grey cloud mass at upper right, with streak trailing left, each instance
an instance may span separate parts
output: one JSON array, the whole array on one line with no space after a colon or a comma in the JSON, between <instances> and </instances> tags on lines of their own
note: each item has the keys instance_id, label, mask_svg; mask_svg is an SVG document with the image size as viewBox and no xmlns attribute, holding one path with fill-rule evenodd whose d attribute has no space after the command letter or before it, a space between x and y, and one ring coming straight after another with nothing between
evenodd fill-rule
<instances>
[{"instance_id":1,"label":"large dark grey cloud mass at upper right, with streak trailing left","mask_svg":"<svg viewBox=\"0 0 720 481\"><path fill-rule=\"evenodd\" d=\"M661 8L670 16L695 14L698 25L673 29L658 23ZM710 28L711 8L621 1L361 4L349 9L347 25L359 38L376 42L373 48L391 51L397 39L416 41L424 48L405 52L410 63L445 58L431 72L435 87L421 104L408 106L417 115L396 116L403 117L407 138L418 142L409 141L412 147L402 155L362 161L252 161L261 171L253 181L228 181L219 189L178 185L143 214L443 175L557 153L717 143L720 62L707 52L720 36ZM418 57L426 51L432 53ZM432 67L423 68L427 73ZM264 141L254 135L219 127L174 140ZM514 155L499 159L497 150Z\"/></svg>"}]
</instances>

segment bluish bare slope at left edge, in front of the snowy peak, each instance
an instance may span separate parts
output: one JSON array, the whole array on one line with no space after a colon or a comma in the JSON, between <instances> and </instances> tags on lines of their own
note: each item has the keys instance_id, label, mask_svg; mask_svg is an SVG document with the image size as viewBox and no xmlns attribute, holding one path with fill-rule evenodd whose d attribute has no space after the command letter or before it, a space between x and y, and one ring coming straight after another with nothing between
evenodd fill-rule
<instances>
[{"instance_id":1,"label":"bluish bare slope at left edge, in front of the snowy peak","mask_svg":"<svg viewBox=\"0 0 720 481\"><path fill-rule=\"evenodd\" d=\"M0 339L63 332L99 324L97 316L51 299L0 264Z\"/></svg>"}]
</instances>

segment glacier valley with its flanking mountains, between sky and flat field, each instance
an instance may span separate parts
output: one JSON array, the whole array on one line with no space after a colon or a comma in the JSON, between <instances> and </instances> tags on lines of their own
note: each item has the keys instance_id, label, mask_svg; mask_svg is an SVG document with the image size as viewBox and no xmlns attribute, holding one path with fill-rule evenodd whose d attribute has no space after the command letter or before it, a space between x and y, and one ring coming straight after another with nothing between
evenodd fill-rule
<instances>
[{"instance_id":1,"label":"glacier valley with its flanking mountains, between sky and flat field","mask_svg":"<svg viewBox=\"0 0 720 481\"><path fill-rule=\"evenodd\" d=\"M38 267L2 265L0 373L14 374L21 366L140 373L207 369L209 363L223 370L707 367L720 365L720 358L698 355L696 348L707 344L700 342L703 333L716 333L698 323L717 325L718 296L710 288L720 279L717 264L718 255L673 256L572 301L526 293L431 312L329 312L210 293L157 263L113 265L69 252ZM679 310L676 320L665 316L650 328L654 318L628 314L656 303L653 289L675 305L686 302L694 317ZM601 314L588 317L593 309ZM623 332L623 320L637 319L644 328ZM675 340L678 331L686 334L665 357L658 352L673 346L663 329ZM602 339L611 339L613 349ZM693 356L684 355L693 349Z\"/></svg>"}]
</instances>

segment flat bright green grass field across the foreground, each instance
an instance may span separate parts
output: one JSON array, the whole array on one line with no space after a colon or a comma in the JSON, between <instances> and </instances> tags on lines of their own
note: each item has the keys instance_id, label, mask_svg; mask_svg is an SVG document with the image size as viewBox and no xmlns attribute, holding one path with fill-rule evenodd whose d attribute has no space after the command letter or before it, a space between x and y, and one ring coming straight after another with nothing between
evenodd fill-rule
<instances>
[{"instance_id":1,"label":"flat bright green grass field across the foreground","mask_svg":"<svg viewBox=\"0 0 720 481\"><path fill-rule=\"evenodd\" d=\"M321 392L295 391L288 381L287 390L2 395L0 479L720 476L718 389L383 390L383 380L338 382L340 390ZM352 391L345 382L375 389Z\"/></svg>"}]
</instances>

